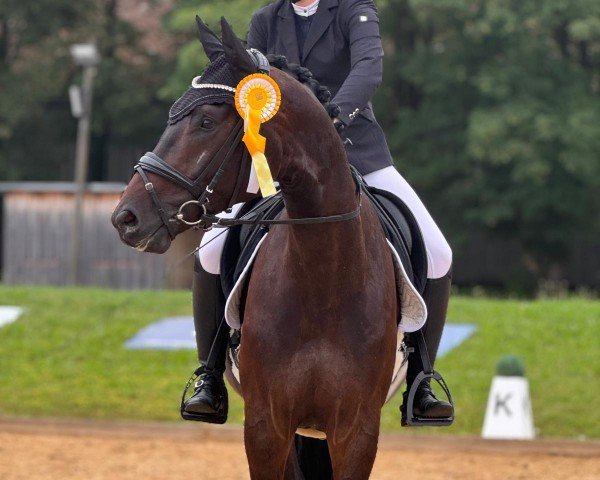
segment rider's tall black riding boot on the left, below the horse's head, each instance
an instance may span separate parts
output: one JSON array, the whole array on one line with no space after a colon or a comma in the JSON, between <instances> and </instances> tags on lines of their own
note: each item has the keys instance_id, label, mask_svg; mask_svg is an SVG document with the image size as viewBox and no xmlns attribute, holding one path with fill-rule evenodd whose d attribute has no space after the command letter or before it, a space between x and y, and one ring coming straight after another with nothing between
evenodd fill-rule
<instances>
[{"instance_id":1,"label":"rider's tall black riding boot on the left, below the horse's head","mask_svg":"<svg viewBox=\"0 0 600 480\"><path fill-rule=\"evenodd\" d=\"M229 327L223 320L225 298L219 275L206 272L198 258L192 296L200 374L194 394L183 404L181 416L186 420L225 423L228 403L223 372L229 341Z\"/></svg>"}]
</instances>

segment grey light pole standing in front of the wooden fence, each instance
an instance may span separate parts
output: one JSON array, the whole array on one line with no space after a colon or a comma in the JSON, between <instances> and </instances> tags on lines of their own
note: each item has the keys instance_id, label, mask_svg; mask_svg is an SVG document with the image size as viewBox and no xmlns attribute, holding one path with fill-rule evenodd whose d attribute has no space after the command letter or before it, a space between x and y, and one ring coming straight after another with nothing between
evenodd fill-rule
<instances>
[{"instance_id":1,"label":"grey light pole standing in front of the wooden fence","mask_svg":"<svg viewBox=\"0 0 600 480\"><path fill-rule=\"evenodd\" d=\"M96 66L100 62L98 49L93 43L79 43L71 46L71 56L76 65L83 67L81 88L71 86L69 97L71 111L79 119L77 126L77 144L75 146L75 210L71 231L71 265L69 283L79 283L79 254L81 250L81 225L83 223L83 199L87 180L90 123L92 116L92 96Z\"/></svg>"}]
</instances>

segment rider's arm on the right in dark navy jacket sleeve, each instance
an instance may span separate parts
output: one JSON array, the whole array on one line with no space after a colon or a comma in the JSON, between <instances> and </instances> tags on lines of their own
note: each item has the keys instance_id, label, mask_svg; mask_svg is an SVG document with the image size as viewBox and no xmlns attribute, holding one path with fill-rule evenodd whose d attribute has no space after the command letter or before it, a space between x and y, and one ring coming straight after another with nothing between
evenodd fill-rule
<instances>
[{"instance_id":1,"label":"rider's arm on the right in dark navy jacket sleeve","mask_svg":"<svg viewBox=\"0 0 600 480\"><path fill-rule=\"evenodd\" d=\"M340 24L350 47L351 70L332 100L349 125L367 106L383 76L383 47L373 0L340 2Z\"/></svg>"}]
</instances>

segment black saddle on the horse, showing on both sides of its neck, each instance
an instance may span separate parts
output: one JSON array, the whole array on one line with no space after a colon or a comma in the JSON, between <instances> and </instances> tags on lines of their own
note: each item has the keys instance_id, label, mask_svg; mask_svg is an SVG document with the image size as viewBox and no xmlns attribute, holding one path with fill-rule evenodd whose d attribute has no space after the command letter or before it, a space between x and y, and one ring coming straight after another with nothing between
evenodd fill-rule
<instances>
[{"instance_id":1,"label":"black saddle on the horse, showing on both sides of its neck","mask_svg":"<svg viewBox=\"0 0 600 480\"><path fill-rule=\"evenodd\" d=\"M402 270L404 279L422 295L427 279L427 255L423 236L417 221L408 206L398 197L385 190L367 185L362 176L351 167L352 175L364 197L371 200L379 217L388 243L395 252L396 267ZM246 203L238 212L237 218L272 220L284 209L281 193ZM229 234L221 256L221 283L225 298L230 298L242 276L248 276L251 263L260 243L268 234L268 225L237 225L229 229ZM398 263L400 265L398 265ZM398 273L398 272L397 272ZM247 282L239 288L238 301L240 322Z\"/></svg>"}]
</instances>

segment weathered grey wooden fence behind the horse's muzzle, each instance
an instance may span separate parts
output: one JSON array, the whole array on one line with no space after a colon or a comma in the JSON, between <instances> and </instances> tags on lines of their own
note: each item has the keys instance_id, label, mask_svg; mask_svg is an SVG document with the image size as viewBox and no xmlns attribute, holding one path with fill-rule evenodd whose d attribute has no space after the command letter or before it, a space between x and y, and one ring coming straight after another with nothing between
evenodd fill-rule
<instances>
[{"instance_id":1,"label":"weathered grey wooden fence behind the horse's muzzle","mask_svg":"<svg viewBox=\"0 0 600 480\"><path fill-rule=\"evenodd\" d=\"M90 184L84 200L79 278L112 288L182 288L191 281L196 232L181 235L166 255L121 243L110 222L121 184ZM73 186L6 183L2 194L2 279L8 284L66 285L70 267Z\"/></svg>"}]
</instances>

